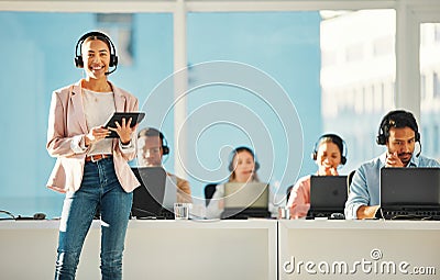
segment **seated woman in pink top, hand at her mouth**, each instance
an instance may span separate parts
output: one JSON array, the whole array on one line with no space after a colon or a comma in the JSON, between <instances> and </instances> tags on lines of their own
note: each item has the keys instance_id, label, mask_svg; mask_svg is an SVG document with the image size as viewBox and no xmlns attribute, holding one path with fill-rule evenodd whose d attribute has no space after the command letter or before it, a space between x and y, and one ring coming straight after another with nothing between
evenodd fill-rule
<instances>
[{"instance_id":1,"label":"seated woman in pink top, hand at her mouth","mask_svg":"<svg viewBox=\"0 0 440 280\"><path fill-rule=\"evenodd\" d=\"M345 143L336 134L324 134L315 144L311 154L318 165L318 176L338 176L338 167L346 163ZM310 209L310 175L300 178L292 188L287 201L290 219L307 216Z\"/></svg>"}]
</instances>

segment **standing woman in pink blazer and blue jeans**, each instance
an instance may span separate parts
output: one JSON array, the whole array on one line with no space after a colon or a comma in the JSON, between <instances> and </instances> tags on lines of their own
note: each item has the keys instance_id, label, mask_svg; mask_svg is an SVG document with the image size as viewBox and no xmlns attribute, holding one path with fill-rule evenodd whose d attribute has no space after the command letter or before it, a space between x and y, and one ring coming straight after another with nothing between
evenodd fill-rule
<instances>
[{"instance_id":1,"label":"standing woman in pink blazer and blue jeans","mask_svg":"<svg viewBox=\"0 0 440 280\"><path fill-rule=\"evenodd\" d=\"M79 53L78 53L79 51ZM102 279L122 279L122 251L139 181L128 161L135 156L134 120L116 128L102 125L113 112L138 111L138 99L116 87L108 75L118 56L101 32L82 35L75 64L86 77L55 90L48 115L46 148L56 164L47 187L66 193L57 249L55 279L75 279L82 244L97 209L101 212ZM109 68L113 67L112 71ZM118 138L107 138L111 131Z\"/></svg>"}]
</instances>

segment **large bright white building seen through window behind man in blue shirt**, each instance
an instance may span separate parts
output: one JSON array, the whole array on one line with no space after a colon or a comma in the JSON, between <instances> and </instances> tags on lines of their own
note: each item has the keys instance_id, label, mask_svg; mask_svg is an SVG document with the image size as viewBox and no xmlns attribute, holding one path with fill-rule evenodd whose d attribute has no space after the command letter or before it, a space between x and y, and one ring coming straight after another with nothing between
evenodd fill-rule
<instances>
[{"instance_id":1,"label":"large bright white building seen through window behind man in blue shirt","mask_svg":"<svg viewBox=\"0 0 440 280\"><path fill-rule=\"evenodd\" d=\"M361 10L321 22L321 49L346 58L331 67L322 65L321 87L328 99L334 99L337 104L349 104L350 114L338 113L332 117L323 114L324 131L351 139L346 142L349 150L353 150L346 164L349 170L381 152L371 146L377 146L376 126L382 115L394 107L394 21L393 10ZM381 87L376 89L376 85Z\"/></svg>"}]
</instances>

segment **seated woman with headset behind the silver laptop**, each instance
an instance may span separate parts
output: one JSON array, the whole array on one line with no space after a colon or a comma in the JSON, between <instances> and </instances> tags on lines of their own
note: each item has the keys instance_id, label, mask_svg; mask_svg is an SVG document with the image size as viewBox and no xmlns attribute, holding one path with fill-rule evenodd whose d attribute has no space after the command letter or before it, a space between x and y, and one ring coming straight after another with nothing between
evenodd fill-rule
<instances>
[{"instance_id":1,"label":"seated woman with headset behind the silver laptop","mask_svg":"<svg viewBox=\"0 0 440 280\"><path fill-rule=\"evenodd\" d=\"M255 160L255 155L252 149L248 147L238 147L232 154L233 157L229 164L229 176L228 182L258 182L258 176L256 170L260 165ZM207 205L206 216L207 219L220 219L223 212L223 200L224 197L224 183L216 187L216 192L212 195L209 204Z\"/></svg>"}]
</instances>

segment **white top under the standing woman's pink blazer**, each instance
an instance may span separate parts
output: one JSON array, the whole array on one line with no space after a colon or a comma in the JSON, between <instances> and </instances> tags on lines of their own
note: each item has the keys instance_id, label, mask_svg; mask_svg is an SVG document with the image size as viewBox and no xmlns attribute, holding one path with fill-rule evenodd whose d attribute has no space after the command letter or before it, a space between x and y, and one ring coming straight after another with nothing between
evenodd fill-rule
<instances>
[{"instance_id":1,"label":"white top under the standing woman's pink blazer","mask_svg":"<svg viewBox=\"0 0 440 280\"><path fill-rule=\"evenodd\" d=\"M106 124L106 121L116 111L113 92L97 92L82 89L82 107L86 116L87 127L90 130L95 126ZM112 154L112 138L106 138L91 144L87 155Z\"/></svg>"}]
</instances>

